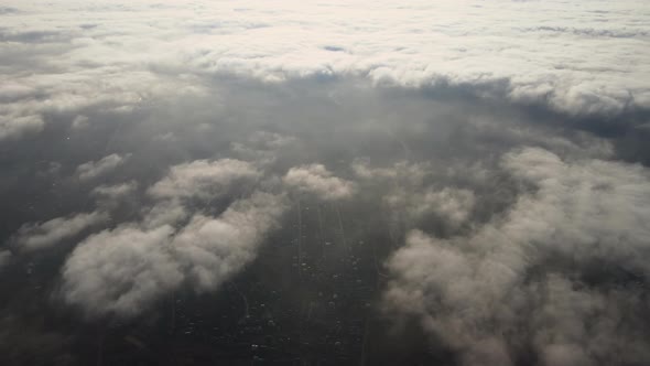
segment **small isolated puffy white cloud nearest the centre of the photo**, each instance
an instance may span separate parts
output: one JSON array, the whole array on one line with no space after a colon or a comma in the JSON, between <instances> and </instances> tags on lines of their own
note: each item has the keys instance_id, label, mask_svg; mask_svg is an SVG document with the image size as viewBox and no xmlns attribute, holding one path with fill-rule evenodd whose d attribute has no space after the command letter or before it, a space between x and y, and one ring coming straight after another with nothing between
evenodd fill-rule
<instances>
[{"instance_id":1,"label":"small isolated puffy white cloud nearest the centre of the photo","mask_svg":"<svg viewBox=\"0 0 650 366\"><path fill-rule=\"evenodd\" d=\"M355 192L353 182L334 176L323 164L294 166L283 177L284 184L318 196L321 200L343 200Z\"/></svg>"}]
</instances>

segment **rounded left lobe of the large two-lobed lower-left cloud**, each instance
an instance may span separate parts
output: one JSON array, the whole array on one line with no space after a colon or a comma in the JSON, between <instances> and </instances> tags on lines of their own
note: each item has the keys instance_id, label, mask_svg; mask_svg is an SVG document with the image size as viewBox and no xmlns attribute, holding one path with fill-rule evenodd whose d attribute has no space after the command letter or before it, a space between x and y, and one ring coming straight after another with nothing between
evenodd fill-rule
<instances>
[{"instance_id":1,"label":"rounded left lobe of the large two-lobed lower-left cloud","mask_svg":"<svg viewBox=\"0 0 650 366\"><path fill-rule=\"evenodd\" d=\"M91 316L130 316L148 309L183 280L169 254L172 234L171 226L123 225L88 237L63 268L65 300Z\"/></svg>"}]
</instances>

